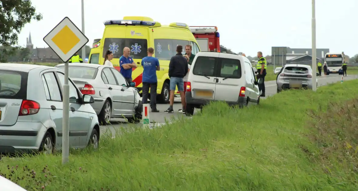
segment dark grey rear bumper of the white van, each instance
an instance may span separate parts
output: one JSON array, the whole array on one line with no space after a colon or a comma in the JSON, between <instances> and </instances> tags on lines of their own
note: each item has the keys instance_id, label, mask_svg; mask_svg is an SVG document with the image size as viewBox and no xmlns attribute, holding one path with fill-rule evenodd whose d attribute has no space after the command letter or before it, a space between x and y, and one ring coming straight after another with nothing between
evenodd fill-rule
<instances>
[{"instance_id":1,"label":"dark grey rear bumper of the white van","mask_svg":"<svg viewBox=\"0 0 358 191\"><path fill-rule=\"evenodd\" d=\"M202 106L205 106L209 104L210 102L216 102L218 100L210 100L210 99L196 99L193 98L192 92L185 92L185 102L187 104L192 104L196 108L201 108ZM227 102L226 103L229 106L247 106L247 97L238 97L237 102Z\"/></svg>"}]
</instances>

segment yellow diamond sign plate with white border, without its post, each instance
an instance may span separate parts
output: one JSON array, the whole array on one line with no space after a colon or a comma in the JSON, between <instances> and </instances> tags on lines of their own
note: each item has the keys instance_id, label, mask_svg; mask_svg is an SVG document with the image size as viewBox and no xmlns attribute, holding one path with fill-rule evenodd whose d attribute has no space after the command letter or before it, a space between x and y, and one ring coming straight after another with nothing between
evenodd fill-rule
<instances>
[{"instance_id":1,"label":"yellow diamond sign plate with white border, without its post","mask_svg":"<svg viewBox=\"0 0 358 191\"><path fill-rule=\"evenodd\" d=\"M63 62L67 62L88 43L88 38L65 17L44 37L44 41Z\"/></svg>"}]
</instances>

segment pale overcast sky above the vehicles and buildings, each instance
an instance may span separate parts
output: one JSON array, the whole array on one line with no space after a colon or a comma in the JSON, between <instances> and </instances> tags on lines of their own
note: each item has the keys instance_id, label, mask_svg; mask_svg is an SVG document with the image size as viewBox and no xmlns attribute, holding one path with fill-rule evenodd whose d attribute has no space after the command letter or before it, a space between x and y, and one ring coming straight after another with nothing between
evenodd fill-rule
<instances>
[{"instance_id":1,"label":"pale overcast sky above the vehicles and buildings","mask_svg":"<svg viewBox=\"0 0 358 191\"><path fill-rule=\"evenodd\" d=\"M19 45L31 32L34 47L47 46L43 37L68 16L81 29L81 0L32 0L43 20L26 24ZM169 3L170 2L170 3ZM178 2L178 3L177 3ZM163 24L218 26L220 44L254 56L271 55L271 46L311 48L311 0L84 0L85 34L102 38L103 21L123 16L149 16ZM316 0L317 48L358 54L358 0Z\"/></svg>"}]
</instances>

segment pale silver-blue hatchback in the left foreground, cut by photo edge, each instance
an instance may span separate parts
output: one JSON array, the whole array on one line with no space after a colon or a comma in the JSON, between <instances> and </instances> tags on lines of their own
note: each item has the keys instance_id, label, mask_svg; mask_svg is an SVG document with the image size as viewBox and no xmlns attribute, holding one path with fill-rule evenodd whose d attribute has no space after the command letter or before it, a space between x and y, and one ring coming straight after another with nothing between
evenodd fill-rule
<instances>
[{"instance_id":1,"label":"pale silver-blue hatchback in the left foreground, cut by photo edge","mask_svg":"<svg viewBox=\"0 0 358 191\"><path fill-rule=\"evenodd\" d=\"M63 71L41 65L0 64L0 152L52 153L62 148ZM92 96L69 80L69 145L75 148L100 137Z\"/></svg>"}]
</instances>

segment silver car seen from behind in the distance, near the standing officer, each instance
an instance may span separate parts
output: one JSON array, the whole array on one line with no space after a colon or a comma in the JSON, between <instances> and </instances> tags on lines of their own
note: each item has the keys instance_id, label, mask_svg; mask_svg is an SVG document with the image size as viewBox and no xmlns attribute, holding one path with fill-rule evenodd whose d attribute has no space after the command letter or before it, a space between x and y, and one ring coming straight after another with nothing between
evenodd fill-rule
<instances>
[{"instance_id":1,"label":"silver car seen from behind in the distance, near the standing officer","mask_svg":"<svg viewBox=\"0 0 358 191\"><path fill-rule=\"evenodd\" d=\"M316 73L319 76L319 73ZM286 64L277 75L277 93L284 89L312 89L312 68L310 65ZM316 79L316 84L318 80Z\"/></svg>"}]
</instances>

